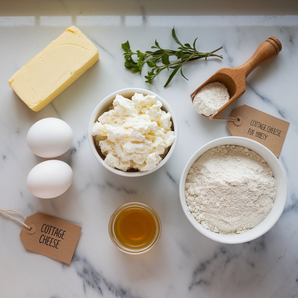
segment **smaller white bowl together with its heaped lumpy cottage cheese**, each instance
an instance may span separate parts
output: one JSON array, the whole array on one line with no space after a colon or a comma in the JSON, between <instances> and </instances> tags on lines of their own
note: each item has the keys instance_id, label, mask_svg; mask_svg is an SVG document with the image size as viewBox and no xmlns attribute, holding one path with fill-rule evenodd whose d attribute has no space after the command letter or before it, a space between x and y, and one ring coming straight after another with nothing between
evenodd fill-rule
<instances>
[{"instance_id":1,"label":"smaller white bowl together with its heaped lumpy cottage cheese","mask_svg":"<svg viewBox=\"0 0 298 298\"><path fill-rule=\"evenodd\" d=\"M94 156L121 176L143 176L162 167L177 137L177 120L167 102L139 88L105 97L94 109L88 127Z\"/></svg>"}]
</instances>

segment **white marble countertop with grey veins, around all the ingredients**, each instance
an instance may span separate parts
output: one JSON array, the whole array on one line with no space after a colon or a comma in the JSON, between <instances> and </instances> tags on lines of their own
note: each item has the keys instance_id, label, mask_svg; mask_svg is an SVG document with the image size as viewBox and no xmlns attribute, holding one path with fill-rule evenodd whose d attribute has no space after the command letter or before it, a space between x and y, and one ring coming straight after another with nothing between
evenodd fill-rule
<instances>
[{"instance_id":1,"label":"white marble countertop with grey veins, around all the ingredients","mask_svg":"<svg viewBox=\"0 0 298 298\"><path fill-rule=\"evenodd\" d=\"M82 8L83 1L53 1L49 14L40 4L34 9L32 2L28 6L21 2L20 6L5 4L0 10L0 208L16 209L26 216L44 212L83 229L68 266L26 251L19 238L21 226L0 216L0 296L298 297L297 16L260 16L260 12L266 14L264 9L252 8L252 16L229 15L229 11L222 16L218 8L212 14L212 7L204 16L199 4L176 13L172 5L170 13L166 8L155 13L145 1L133 2L130 9L113 8L110 3L109 10L104 4L102 10L99 4L92 10L92 1L88 9ZM286 7L285 13L291 9ZM7 80L71 24L94 42L100 60L46 108L33 112ZM166 89L162 86L168 74L150 86L144 82L145 73L134 75L125 69L122 42L129 40L132 49L142 50L155 39L166 47L174 46L174 25L184 43L199 37L202 51L222 45L224 59L187 65L184 75L189 80L176 75ZM179 202L178 183L189 157L208 141L230 135L226 122L198 115L189 94L219 68L242 64L270 36L280 39L282 51L249 75L245 94L225 114L248 104L291 123L279 159L287 174L288 201L280 220L262 237L249 243L221 244L195 230ZM105 170L87 141L94 107L106 95L126 87L150 89L162 96L179 123L179 140L167 164L132 179ZM72 167L74 180L66 193L53 199L36 198L26 187L27 174L44 160L29 150L26 134L45 117L63 119L74 131L72 148L57 158ZM112 212L131 201L150 205L162 221L159 242L145 254L119 251L108 235Z\"/></svg>"}]
</instances>

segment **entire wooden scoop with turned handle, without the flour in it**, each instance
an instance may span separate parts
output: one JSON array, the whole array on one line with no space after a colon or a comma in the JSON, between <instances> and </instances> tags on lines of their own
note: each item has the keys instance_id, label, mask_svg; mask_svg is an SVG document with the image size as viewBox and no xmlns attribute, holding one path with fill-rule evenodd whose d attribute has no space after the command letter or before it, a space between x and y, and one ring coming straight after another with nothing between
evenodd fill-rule
<instances>
[{"instance_id":1,"label":"entire wooden scoop with turned handle, without the flour in it","mask_svg":"<svg viewBox=\"0 0 298 298\"><path fill-rule=\"evenodd\" d=\"M195 97L205 85L213 82L223 83L228 89L230 99L217 112L211 116L203 116L213 119L215 116L224 111L230 104L237 100L245 91L246 77L260 64L273 59L281 51L281 43L276 37L270 37L263 41L251 58L244 64L238 67L221 68L214 75L212 75L206 82L204 82L198 89L190 94L191 100Z\"/></svg>"}]
</instances>

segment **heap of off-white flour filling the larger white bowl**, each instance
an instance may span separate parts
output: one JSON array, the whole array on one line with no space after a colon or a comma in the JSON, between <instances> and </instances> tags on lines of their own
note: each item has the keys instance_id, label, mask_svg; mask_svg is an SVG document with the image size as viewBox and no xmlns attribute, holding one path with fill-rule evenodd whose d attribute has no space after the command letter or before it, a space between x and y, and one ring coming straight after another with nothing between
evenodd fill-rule
<instances>
[{"instance_id":1,"label":"heap of off-white flour filling the larger white bowl","mask_svg":"<svg viewBox=\"0 0 298 298\"><path fill-rule=\"evenodd\" d=\"M212 148L190 168L185 198L193 217L219 234L239 234L270 212L276 181L265 160L235 145Z\"/></svg>"}]
</instances>

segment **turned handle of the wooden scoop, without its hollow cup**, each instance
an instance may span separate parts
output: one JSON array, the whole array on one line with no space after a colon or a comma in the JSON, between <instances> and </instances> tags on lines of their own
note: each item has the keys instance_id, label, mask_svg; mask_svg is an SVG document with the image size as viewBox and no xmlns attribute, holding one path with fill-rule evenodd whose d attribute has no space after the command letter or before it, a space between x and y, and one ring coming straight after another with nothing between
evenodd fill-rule
<instances>
[{"instance_id":1,"label":"turned handle of the wooden scoop, without its hollow cup","mask_svg":"<svg viewBox=\"0 0 298 298\"><path fill-rule=\"evenodd\" d=\"M249 60L236 69L243 70L247 77L257 66L272 60L281 51L281 48L281 43L276 37L269 37L259 45Z\"/></svg>"}]
</instances>

